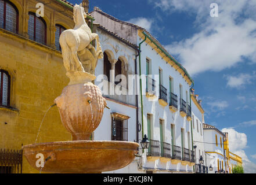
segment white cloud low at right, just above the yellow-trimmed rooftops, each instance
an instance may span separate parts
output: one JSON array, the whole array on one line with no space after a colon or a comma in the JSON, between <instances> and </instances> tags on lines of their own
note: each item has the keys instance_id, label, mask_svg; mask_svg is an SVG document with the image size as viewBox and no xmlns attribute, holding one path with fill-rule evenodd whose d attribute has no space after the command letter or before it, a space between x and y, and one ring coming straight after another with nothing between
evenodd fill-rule
<instances>
[{"instance_id":1,"label":"white cloud low at right, just above the yellow-trimmed rooftops","mask_svg":"<svg viewBox=\"0 0 256 185\"><path fill-rule=\"evenodd\" d=\"M233 128L223 128L222 132L228 132L229 150L242 158L244 172L256 173L256 164L251 162L244 149L247 147L247 136L244 133L237 132Z\"/></svg>"}]
</instances>

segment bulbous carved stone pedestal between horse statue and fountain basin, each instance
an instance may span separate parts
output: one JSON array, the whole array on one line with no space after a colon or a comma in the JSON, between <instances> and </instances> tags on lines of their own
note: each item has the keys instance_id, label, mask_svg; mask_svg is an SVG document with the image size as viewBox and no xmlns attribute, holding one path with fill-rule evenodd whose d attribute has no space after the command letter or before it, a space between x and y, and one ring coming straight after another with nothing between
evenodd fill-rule
<instances>
[{"instance_id":1,"label":"bulbous carved stone pedestal between horse statue and fountain basin","mask_svg":"<svg viewBox=\"0 0 256 185\"><path fill-rule=\"evenodd\" d=\"M72 134L73 140L89 140L102 120L103 109L107 105L99 87L91 82L64 87L55 103L62 123Z\"/></svg>"}]
</instances>

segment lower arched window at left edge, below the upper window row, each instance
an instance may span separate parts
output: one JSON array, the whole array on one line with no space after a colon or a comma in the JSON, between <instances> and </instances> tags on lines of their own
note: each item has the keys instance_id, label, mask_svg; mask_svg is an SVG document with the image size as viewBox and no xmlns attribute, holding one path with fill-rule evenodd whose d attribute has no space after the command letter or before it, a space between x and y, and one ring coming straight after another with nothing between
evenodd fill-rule
<instances>
[{"instance_id":1,"label":"lower arched window at left edge, below the upper window row","mask_svg":"<svg viewBox=\"0 0 256 185\"><path fill-rule=\"evenodd\" d=\"M0 106L10 106L10 75L0 69Z\"/></svg>"}]
</instances>

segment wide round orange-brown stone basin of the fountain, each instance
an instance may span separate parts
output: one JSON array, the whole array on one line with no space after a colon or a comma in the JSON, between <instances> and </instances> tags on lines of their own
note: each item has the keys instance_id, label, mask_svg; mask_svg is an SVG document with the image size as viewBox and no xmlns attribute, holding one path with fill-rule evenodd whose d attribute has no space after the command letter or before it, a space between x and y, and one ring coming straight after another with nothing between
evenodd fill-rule
<instances>
[{"instance_id":1,"label":"wide round orange-brown stone basin of the fountain","mask_svg":"<svg viewBox=\"0 0 256 185\"><path fill-rule=\"evenodd\" d=\"M124 141L75 140L23 146L28 163L38 171L51 173L101 173L124 168L138 152L139 144ZM44 155L44 167L37 167Z\"/></svg>"}]
</instances>

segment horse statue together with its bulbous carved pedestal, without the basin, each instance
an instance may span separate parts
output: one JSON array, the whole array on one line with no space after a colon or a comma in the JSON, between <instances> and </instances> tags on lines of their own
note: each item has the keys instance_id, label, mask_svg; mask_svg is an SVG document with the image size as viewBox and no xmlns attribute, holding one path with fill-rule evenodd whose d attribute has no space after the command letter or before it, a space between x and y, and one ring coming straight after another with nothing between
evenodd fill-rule
<instances>
[{"instance_id":1,"label":"horse statue together with its bulbous carved pedestal, without the basin","mask_svg":"<svg viewBox=\"0 0 256 185\"><path fill-rule=\"evenodd\" d=\"M74 29L67 29L60 35L60 46L66 75L70 78L60 97L55 99L64 127L73 140L89 140L92 132L102 120L106 99L95 80L94 71L103 53L99 36L93 34L85 23L86 13L80 5L74 6ZM91 45L96 39L97 50Z\"/></svg>"}]
</instances>

